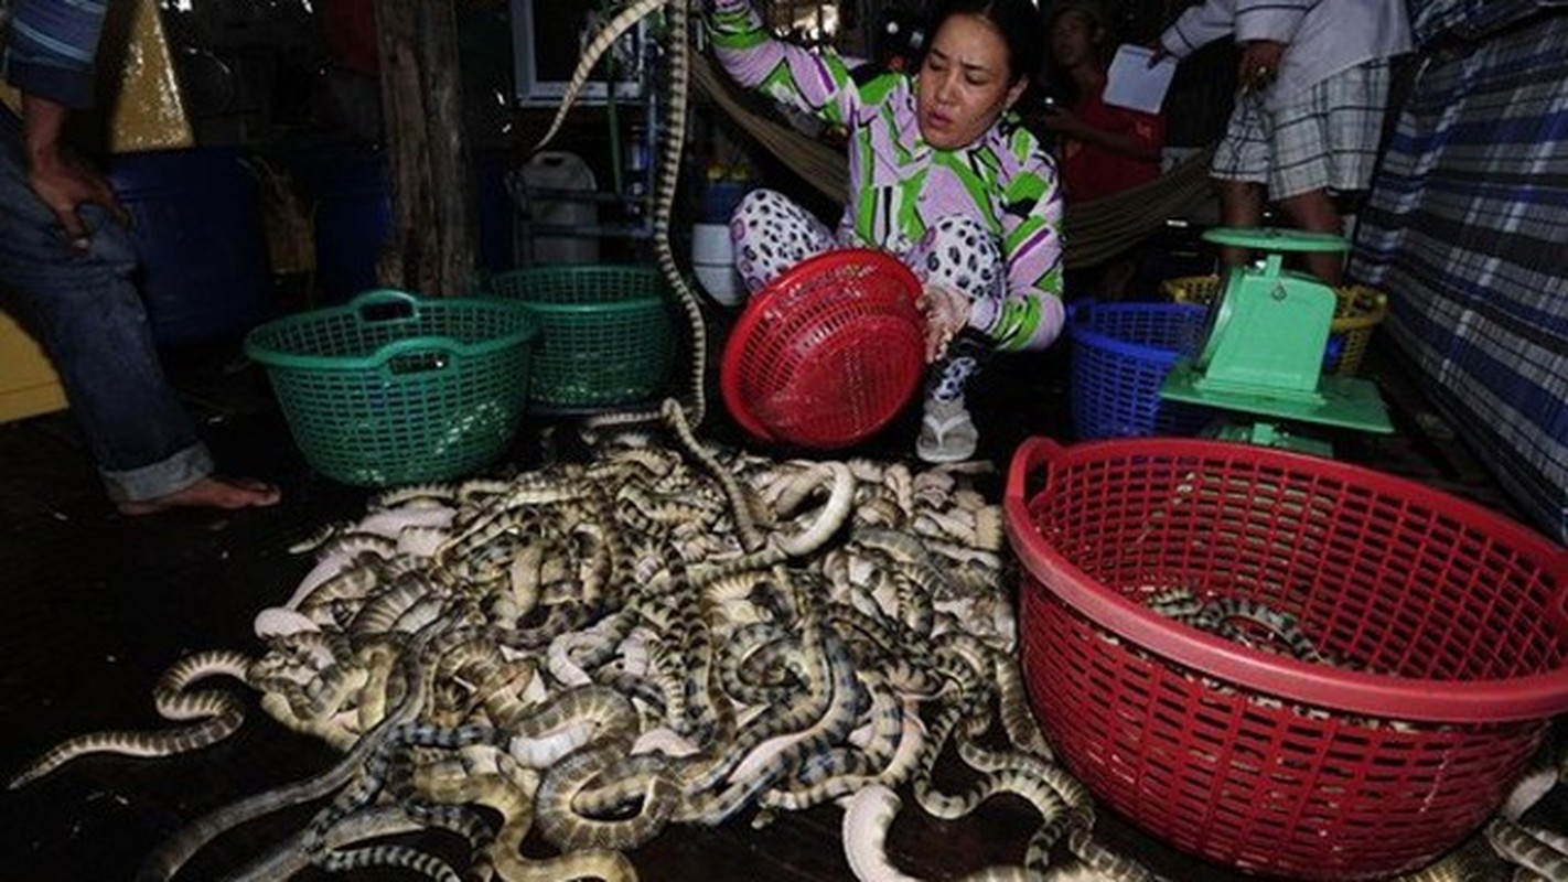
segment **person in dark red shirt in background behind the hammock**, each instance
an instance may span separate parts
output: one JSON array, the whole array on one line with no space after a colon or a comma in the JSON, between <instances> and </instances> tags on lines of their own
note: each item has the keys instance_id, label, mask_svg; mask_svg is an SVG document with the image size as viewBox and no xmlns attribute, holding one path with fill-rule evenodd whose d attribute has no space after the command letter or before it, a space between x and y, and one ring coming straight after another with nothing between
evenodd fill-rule
<instances>
[{"instance_id":1,"label":"person in dark red shirt in background behind the hammock","mask_svg":"<svg viewBox=\"0 0 1568 882\"><path fill-rule=\"evenodd\" d=\"M1068 202L1102 199L1157 179L1165 117L1105 103L1115 42L1104 3L1058 0L1047 20L1052 69L1068 97L1040 124L1060 138L1057 161ZM1123 299L1137 266L1134 248L1107 260L1082 287L1101 299Z\"/></svg>"}]
</instances>

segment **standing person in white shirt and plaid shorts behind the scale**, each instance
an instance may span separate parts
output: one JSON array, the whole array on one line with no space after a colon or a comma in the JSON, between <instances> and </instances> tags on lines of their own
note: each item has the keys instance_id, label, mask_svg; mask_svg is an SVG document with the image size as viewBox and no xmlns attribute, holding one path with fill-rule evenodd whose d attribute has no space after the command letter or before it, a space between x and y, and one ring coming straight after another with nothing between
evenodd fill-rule
<instances>
[{"instance_id":1,"label":"standing person in white shirt and plaid shorts behind the scale","mask_svg":"<svg viewBox=\"0 0 1568 882\"><path fill-rule=\"evenodd\" d=\"M1405 0L1206 0L1160 34L1151 64L1225 36L1242 52L1240 91L1210 168L1221 222L1259 226L1267 193L1297 227L1344 232L1336 197L1370 183L1389 60L1411 47ZM1234 266L1248 255L1220 257ZM1341 255L1306 262L1339 284Z\"/></svg>"}]
</instances>

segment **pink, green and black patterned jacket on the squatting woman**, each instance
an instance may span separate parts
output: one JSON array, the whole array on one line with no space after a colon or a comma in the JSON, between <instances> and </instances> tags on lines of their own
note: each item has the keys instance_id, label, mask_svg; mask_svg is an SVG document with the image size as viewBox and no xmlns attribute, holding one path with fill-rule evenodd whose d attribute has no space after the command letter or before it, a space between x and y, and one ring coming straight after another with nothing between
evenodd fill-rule
<instances>
[{"instance_id":1,"label":"pink, green and black patterned jacket on the squatting woman","mask_svg":"<svg viewBox=\"0 0 1568 882\"><path fill-rule=\"evenodd\" d=\"M920 136L916 80L851 75L831 50L775 39L748 0L713 0L709 34L748 89L848 132L850 194L840 241L908 252L927 226L967 215L1007 258L1008 296L977 302L971 323L999 349L1043 349L1062 332L1062 190L1040 139L1004 114L978 141L938 150Z\"/></svg>"}]
</instances>

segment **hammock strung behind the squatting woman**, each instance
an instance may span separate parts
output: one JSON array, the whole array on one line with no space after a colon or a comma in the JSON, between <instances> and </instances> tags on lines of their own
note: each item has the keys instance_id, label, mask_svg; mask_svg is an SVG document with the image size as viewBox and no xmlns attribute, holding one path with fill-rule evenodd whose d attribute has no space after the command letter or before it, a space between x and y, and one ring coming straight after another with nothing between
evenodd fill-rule
<instances>
[{"instance_id":1,"label":"hammock strung behind the squatting woman","mask_svg":"<svg viewBox=\"0 0 1568 882\"><path fill-rule=\"evenodd\" d=\"M713 102L823 196L844 202L848 160L842 149L823 144L745 105L745 92L713 70L706 56L693 56L691 75ZM1063 218L1069 269L1094 266L1143 241L1165 224L1209 199L1209 160L1214 149L1185 158L1149 183L1115 196L1068 205Z\"/></svg>"}]
</instances>

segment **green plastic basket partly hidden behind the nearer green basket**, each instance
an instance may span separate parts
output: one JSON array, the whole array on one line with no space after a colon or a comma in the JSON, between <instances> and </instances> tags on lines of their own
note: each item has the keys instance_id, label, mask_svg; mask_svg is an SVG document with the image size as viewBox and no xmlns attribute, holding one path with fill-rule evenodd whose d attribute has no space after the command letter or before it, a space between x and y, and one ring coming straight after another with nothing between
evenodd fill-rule
<instances>
[{"instance_id":1,"label":"green plastic basket partly hidden behind the nearer green basket","mask_svg":"<svg viewBox=\"0 0 1568 882\"><path fill-rule=\"evenodd\" d=\"M530 407L630 404L657 395L670 378L673 298L652 266L528 266L489 276L481 290L527 304L539 318Z\"/></svg>"}]
</instances>

